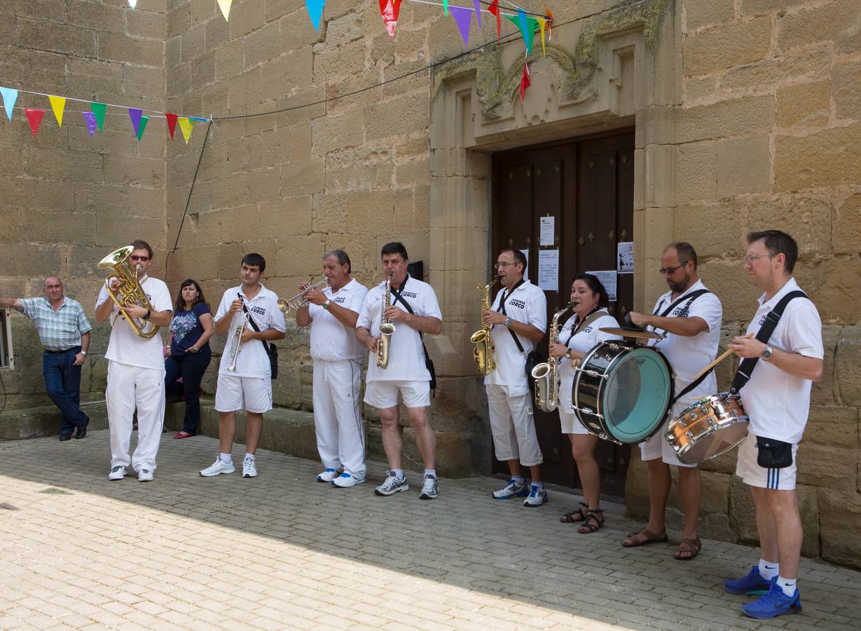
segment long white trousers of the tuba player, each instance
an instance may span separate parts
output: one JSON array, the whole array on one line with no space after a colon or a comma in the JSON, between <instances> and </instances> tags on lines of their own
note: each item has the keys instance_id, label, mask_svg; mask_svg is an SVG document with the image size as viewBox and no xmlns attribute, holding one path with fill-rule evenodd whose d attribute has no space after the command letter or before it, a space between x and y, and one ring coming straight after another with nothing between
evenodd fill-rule
<instances>
[{"instance_id":1,"label":"long white trousers of the tuba player","mask_svg":"<svg viewBox=\"0 0 861 631\"><path fill-rule=\"evenodd\" d=\"M135 471L156 470L156 454L164 424L164 371L108 362L108 425L110 465L131 465ZM132 416L138 409L138 447L128 456Z\"/></svg>"}]
</instances>

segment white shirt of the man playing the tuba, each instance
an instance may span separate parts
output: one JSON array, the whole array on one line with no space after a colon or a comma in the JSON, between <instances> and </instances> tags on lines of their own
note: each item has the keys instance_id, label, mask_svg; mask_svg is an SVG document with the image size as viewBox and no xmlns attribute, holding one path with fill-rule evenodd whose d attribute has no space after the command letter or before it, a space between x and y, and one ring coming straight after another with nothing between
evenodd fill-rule
<instances>
[{"instance_id":1,"label":"white shirt of the man playing the tuba","mask_svg":"<svg viewBox=\"0 0 861 631\"><path fill-rule=\"evenodd\" d=\"M168 291L164 281L145 276L140 281L140 288L149 298L154 311L173 311L170 291ZM99 297L96 299L96 309L106 300L113 302L108 295L108 289L102 284L102 291L99 292ZM164 372L161 335L155 334L149 340L138 337L126 318L120 315L116 303L114 303L114 312L110 315L110 323L110 340L105 358L119 364L152 368Z\"/></svg>"}]
</instances>

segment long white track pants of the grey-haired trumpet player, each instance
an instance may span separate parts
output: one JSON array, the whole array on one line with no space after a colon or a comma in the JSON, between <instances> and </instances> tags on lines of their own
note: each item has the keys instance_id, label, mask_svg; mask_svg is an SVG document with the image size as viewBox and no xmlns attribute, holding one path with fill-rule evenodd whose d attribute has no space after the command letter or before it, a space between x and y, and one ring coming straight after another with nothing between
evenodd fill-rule
<instances>
[{"instance_id":1,"label":"long white track pants of the grey-haired trumpet player","mask_svg":"<svg viewBox=\"0 0 861 631\"><path fill-rule=\"evenodd\" d=\"M323 466L365 475L362 364L314 359L314 426Z\"/></svg>"}]
</instances>

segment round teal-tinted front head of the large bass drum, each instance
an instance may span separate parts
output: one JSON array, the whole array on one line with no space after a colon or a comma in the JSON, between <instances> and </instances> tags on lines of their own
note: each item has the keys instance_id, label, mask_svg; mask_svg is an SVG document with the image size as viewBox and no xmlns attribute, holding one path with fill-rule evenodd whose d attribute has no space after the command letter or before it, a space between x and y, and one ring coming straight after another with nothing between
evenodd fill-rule
<instances>
[{"instance_id":1,"label":"round teal-tinted front head of the large bass drum","mask_svg":"<svg viewBox=\"0 0 861 631\"><path fill-rule=\"evenodd\" d=\"M664 423L672 391L670 365L661 353L649 347L623 353L610 367L601 397L610 434L627 444L652 436Z\"/></svg>"}]
</instances>

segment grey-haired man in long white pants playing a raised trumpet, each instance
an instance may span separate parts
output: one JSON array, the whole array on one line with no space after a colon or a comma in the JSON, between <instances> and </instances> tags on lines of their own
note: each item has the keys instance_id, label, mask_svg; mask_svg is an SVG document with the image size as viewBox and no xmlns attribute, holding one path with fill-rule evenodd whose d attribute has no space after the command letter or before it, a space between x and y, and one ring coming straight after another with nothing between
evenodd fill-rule
<instances>
[{"instance_id":1,"label":"grey-haired man in long white pants playing a raised trumpet","mask_svg":"<svg viewBox=\"0 0 861 631\"><path fill-rule=\"evenodd\" d=\"M296 312L296 324L311 325L314 427L325 469L317 481L347 488L365 481L364 351L356 341L356 320L368 288L350 277L344 250L323 253L323 274L323 289L299 285L307 303Z\"/></svg>"}]
</instances>

